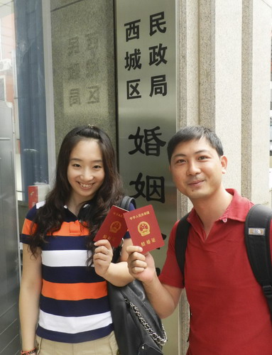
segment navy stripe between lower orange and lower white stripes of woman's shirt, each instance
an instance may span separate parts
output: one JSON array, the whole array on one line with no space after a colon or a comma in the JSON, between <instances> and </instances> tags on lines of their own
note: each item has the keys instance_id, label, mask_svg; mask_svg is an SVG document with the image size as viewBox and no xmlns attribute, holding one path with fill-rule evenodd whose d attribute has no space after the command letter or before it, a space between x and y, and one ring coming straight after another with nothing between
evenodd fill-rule
<instances>
[{"instance_id":1,"label":"navy stripe between lower orange and lower white stripes of woman's shirt","mask_svg":"<svg viewBox=\"0 0 272 355\"><path fill-rule=\"evenodd\" d=\"M94 300L67 301L54 300L41 295L40 310L62 317L84 317L109 312L110 309L107 296Z\"/></svg>"}]
</instances>

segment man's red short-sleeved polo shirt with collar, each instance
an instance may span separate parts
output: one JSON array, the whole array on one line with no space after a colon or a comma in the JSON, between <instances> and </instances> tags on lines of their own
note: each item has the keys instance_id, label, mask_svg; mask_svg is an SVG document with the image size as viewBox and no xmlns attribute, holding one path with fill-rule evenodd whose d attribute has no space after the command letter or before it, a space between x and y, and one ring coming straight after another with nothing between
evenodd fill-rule
<instances>
[{"instance_id":1,"label":"man's red short-sleeved polo shirt with collar","mask_svg":"<svg viewBox=\"0 0 272 355\"><path fill-rule=\"evenodd\" d=\"M271 355L271 316L244 243L244 222L252 203L236 190L227 191L234 198L207 239L195 209L188 217L185 288L192 316L187 354ZM183 275L175 258L177 224L160 280L182 288Z\"/></svg>"}]
</instances>

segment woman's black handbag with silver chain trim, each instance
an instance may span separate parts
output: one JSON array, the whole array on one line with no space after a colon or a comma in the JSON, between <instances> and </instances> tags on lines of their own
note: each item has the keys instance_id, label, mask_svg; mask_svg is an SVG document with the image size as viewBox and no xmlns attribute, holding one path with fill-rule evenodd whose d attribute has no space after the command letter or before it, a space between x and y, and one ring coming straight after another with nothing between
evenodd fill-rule
<instances>
[{"instance_id":1,"label":"woman's black handbag with silver chain trim","mask_svg":"<svg viewBox=\"0 0 272 355\"><path fill-rule=\"evenodd\" d=\"M131 197L124 197L120 207L126 209ZM113 262L119 260L121 246L114 251ZM111 317L114 324L116 342L121 355L160 355L167 341L161 319L146 297L143 284L134 280L124 287L108 285Z\"/></svg>"}]
</instances>

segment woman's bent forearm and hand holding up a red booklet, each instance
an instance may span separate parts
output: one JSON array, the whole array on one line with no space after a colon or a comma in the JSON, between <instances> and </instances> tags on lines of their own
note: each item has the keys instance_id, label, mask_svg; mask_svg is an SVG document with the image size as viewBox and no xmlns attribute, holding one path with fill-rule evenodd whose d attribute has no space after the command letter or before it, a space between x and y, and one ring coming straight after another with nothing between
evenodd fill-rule
<instances>
[{"instance_id":1,"label":"woman's bent forearm and hand holding up a red booklet","mask_svg":"<svg viewBox=\"0 0 272 355\"><path fill-rule=\"evenodd\" d=\"M126 246L131 245L130 238L124 239L119 263L111 263L113 253L107 239L99 240L94 245L97 246L94 251L94 268L98 275L115 286L124 286L134 280L126 263Z\"/></svg>"}]
</instances>

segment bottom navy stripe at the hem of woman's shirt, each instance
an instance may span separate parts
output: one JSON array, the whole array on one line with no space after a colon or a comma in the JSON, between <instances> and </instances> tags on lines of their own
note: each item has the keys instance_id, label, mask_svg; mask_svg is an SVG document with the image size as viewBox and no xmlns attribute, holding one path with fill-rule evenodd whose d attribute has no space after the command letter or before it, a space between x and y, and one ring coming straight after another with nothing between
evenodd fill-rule
<instances>
[{"instance_id":1,"label":"bottom navy stripe at the hem of woman's shirt","mask_svg":"<svg viewBox=\"0 0 272 355\"><path fill-rule=\"evenodd\" d=\"M90 342L91 340L100 339L107 337L114 327L112 324L109 324L107 327L90 330L89 332L81 332L77 334L67 334L61 332L53 332L52 330L44 329L40 326L37 328L38 337L52 340L53 342L62 342L62 343L82 343Z\"/></svg>"}]
</instances>

